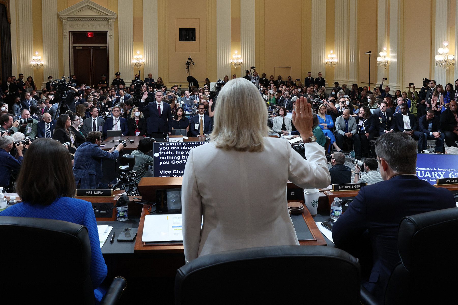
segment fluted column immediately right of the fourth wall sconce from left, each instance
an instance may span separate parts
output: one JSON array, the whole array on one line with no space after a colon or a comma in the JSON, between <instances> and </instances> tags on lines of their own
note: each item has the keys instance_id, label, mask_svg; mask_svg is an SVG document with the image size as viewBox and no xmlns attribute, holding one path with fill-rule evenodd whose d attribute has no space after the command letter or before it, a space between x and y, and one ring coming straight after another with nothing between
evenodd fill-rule
<instances>
[{"instance_id":1,"label":"fluted column immediately right of the fourth wall sconce from left","mask_svg":"<svg viewBox=\"0 0 458 305\"><path fill-rule=\"evenodd\" d=\"M334 80L339 84L348 82L348 2L335 1L335 25L334 25L334 42L335 54L338 59L338 64L335 68ZM313 54L312 54L313 56Z\"/></svg>"}]
</instances>

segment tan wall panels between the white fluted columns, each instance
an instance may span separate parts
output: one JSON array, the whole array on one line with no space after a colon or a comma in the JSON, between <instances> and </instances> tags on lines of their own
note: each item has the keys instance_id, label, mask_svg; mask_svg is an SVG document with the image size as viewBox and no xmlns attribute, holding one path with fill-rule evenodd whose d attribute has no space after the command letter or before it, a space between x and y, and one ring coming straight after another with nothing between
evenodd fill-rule
<instances>
[{"instance_id":1,"label":"tan wall panels between the white fluted columns","mask_svg":"<svg viewBox=\"0 0 458 305\"><path fill-rule=\"evenodd\" d=\"M118 1L120 0L94 0L115 13L118 13ZM148 30L142 29L142 4L147 0L133 0L133 33L134 52L143 49L143 37L148 35ZM240 52L240 1L231 1L231 54L237 49ZM336 0L326 1L326 54L334 45L334 5ZM394 0L389 0L394 1ZM79 0L58 0L58 11L78 3ZM17 3L17 1L16 1ZM306 72L311 69L311 3L312 0L283 0L281 3L274 0L255 0L255 63L257 71L266 73L267 77L274 74L274 67L290 66L290 75L293 79L304 79ZM41 0L32 0L33 11L41 12ZM177 13L177 7L192 7L192 14ZM450 51L454 52L455 44L455 1L451 0L448 12L449 42ZM371 50L371 82L376 81L376 57L381 50L377 49L377 0L358 1L358 46L357 60L358 84L366 85L368 82L368 55L364 54ZM431 78L434 68L434 55L436 46L434 42L434 14L435 0L403 0L403 54L402 60L402 83L405 87L409 82L421 85L423 77ZM16 14L17 14L16 9ZM388 10L389 12L389 10ZM421 18L419 19L419 16ZM192 17L192 18L183 18ZM350 16L351 17L351 16ZM17 18L17 16L16 16ZM58 16L55 16L58 19ZM20 21L18 21L20 22ZM216 0L158 0L158 75L166 84L185 84L188 74L185 73L185 61L191 55L196 65L191 73L197 80L203 82L208 77L211 80L216 78ZM198 26L198 42L190 43L177 42L176 28L185 24ZM155 25L152 25L154 27ZM41 14L33 14L33 49L43 54ZM62 48L62 22L58 21L59 34L59 74L64 73L63 48ZM118 21L114 21L114 61L115 70L119 69L119 37ZM351 39L351 37L349 37ZM192 43L191 43L192 44ZM21 52L18 46L18 52ZM134 54L132 54L133 56ZM243 58L243 54L242 58ZM340 59L339 54L336 54ZM32 54L30 54L30 57ZM131 80L131 76L137 69L132 69L132 75L125 79ZM387 70L387 74L388 74ZM19 71L18 73L20 73ZM147 75L150 71L143 71ZM286 73L286 72L284 72ZM453 80L453 69L447 74L447 81ZM240 68L232 68L231 75L244 76ZM275 73L278 74L278 73ZM289 72L287 73L289 75ZM231 75L228 75L231 78ZM288 75L282 76L284 79ZM28 75L26 75L28 76ZM44 80L43 70L35 70L32 75L36 84ZM275 79L278 75L274 75ZM109 76L112 78L112 75ZM329 86L333 86L334 68L326 67L326 79Z\"/></svg>"}]
</instances>

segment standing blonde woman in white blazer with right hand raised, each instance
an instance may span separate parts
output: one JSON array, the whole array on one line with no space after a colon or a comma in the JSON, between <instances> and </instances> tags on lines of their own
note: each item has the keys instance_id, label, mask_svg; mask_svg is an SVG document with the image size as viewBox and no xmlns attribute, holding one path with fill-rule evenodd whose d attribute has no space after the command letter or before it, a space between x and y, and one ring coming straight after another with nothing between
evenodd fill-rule
<instances>
[{"instance_id":1,"label":"standing blonde woman in white blazer with right hand raised","mask_svg":"<svg viewBox=\"0 0 458 305\"><path fill-rule=\"evenodd\" d=\"M311 107L303 97L293 123L307 142L307 160L287 140L267 137L264 112L265 102L249 80L229 80L220 91L211 142L191 150L183 176L186 262L219 251L299 245L286 183L327 187L326 156L313 142Z\"/></svg>"}]
</instances>

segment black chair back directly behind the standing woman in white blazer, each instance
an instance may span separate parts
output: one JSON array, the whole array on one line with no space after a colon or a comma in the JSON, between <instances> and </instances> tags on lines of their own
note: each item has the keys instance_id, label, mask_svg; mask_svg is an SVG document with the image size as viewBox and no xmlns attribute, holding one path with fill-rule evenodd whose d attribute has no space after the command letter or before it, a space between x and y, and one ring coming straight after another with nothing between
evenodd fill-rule
<instances>
[{"instance_id":1,"label":"black chair back directly behind the standing woman in white blazer","mask_svg":"<svg viewBox=\"0 0 458 305\"><path fill-rule=\"evenodd\" d=\"M213 253L181 267L175 278L180 305L358 304L359 298L358 259L327 246Z\"/></svg>"}]
</instances>

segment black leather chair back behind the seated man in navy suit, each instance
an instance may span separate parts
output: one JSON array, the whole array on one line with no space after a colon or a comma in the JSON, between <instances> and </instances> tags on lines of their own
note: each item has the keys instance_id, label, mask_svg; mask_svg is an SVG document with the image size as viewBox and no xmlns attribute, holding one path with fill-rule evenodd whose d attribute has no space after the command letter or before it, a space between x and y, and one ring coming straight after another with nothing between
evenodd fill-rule
<instances>
[{"instance_id":1,"label":"black leather chair back behind the seated man in navy suit","mask_svg":"<svg viewBox=\"0 0 458 305\"><path fill-rule=\"evenodd\" d=\"M457 231L458 208L401 220L398 251L402 263L391 274L385 304L440 304L456 298Z\"/></svg>"}]
</instances>

